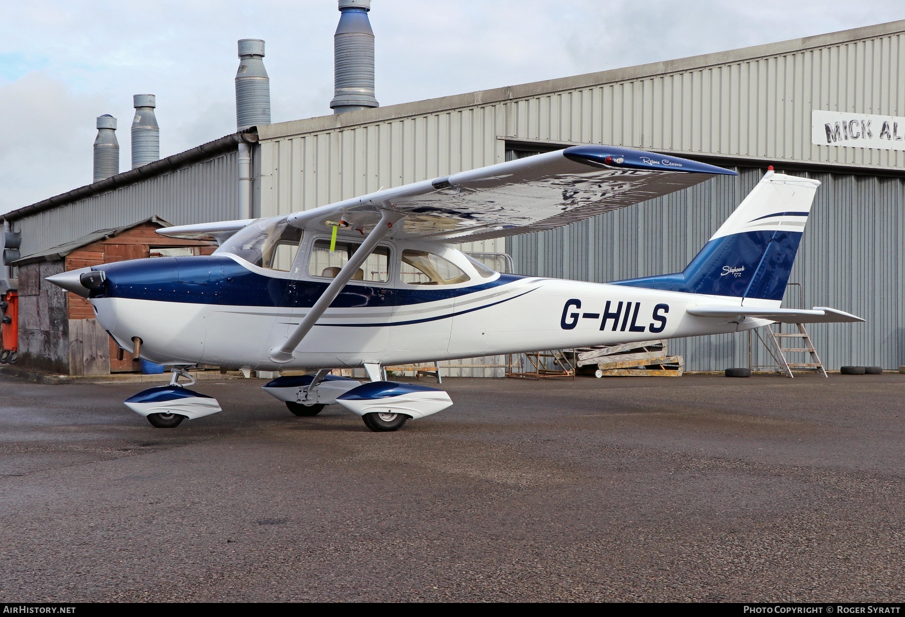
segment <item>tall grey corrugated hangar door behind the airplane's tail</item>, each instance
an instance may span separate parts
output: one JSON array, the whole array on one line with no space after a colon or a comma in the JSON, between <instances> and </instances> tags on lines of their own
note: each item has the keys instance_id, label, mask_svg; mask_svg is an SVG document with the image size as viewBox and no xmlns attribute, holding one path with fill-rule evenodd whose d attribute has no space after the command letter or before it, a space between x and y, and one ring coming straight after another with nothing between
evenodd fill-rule
<instances>
[{"instance_id":1,"label":"tall grey corrugated hangar door behind the airplane's tail","mask_svg":"<svg viewBox=\"0 0 905 617\"><path fill-rule=\"evenodd\" d=\"M608 280L681 271L763 176L738 168L673 195L653 199L559 230L516 236L508 252L520 274ZM790 282L800 283L805 308L829 306L865 318L863 324L814 324L809 331L825 365L905 365L905 179L802 174L820 180L814 209ZM790 287L784 306L798 305ZM753 363L770 364L755 345ZM748 365L748 335L671 341L688 370ZM799 358L800 361L800 358Z\"/></svg>"}]
</instances>

